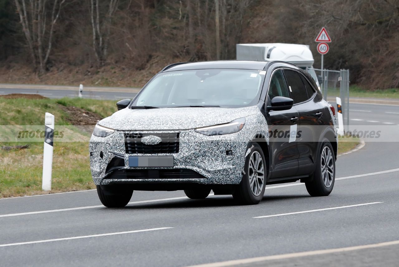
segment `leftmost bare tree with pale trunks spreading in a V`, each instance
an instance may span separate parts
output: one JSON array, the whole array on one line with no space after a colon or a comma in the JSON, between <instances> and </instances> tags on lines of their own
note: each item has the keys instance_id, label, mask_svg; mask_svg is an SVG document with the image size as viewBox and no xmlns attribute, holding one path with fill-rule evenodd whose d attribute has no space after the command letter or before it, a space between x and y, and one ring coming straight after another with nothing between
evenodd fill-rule
<instances>
[{"instance_id":1,"label":"leftmost bare tree with pale trunks spreading in a V","mask_svg":"<svg viewBox=\"0 0 399 267\"><path fill-rule=\"evenodd\" d=\"M44 72L51 52L54 25L58 20L61 7L66 0L15 0L22 30L28 43L32 63L35 69ZM51 17L47 22L47 8Z\"/></svg>"}]
</instances>

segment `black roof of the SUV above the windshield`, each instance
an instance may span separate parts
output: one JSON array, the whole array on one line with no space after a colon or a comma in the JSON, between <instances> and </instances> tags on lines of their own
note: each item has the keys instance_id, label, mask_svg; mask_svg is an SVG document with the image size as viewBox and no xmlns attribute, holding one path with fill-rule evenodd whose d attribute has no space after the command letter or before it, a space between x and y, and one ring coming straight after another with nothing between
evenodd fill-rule
<instances>
[{"instance_id":1,"label":"black roof of the SUV above the windshield","mask_svg":"<svg viewBox=\"0 0 399 267\"><path fill-rule=\"evenodd\" d=\"M173 72L179 70L201 70L201 69L241 69L241 70L263 70L268 62L244 61L244 60L219 60L203 61L193 63L172 64L165 67L161 72Z\"/></svg>"}]
</instances>

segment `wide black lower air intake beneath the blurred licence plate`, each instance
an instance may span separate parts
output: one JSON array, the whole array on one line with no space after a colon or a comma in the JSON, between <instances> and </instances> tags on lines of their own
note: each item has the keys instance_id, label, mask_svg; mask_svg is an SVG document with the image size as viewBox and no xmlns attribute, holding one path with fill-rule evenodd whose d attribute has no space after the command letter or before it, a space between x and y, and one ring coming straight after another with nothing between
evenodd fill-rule
<instances>
[{"instance_id":1,"label":"wide black lower air intake beneath the blurred licence plate","mask_svg":"<svg viewBox=\"0 0 399 267\"><path fill-rule=\"evenodd\" d=\"M205 178L192 169L119 169L104 179L194 179Z\"/></svg>"}]
</instances>

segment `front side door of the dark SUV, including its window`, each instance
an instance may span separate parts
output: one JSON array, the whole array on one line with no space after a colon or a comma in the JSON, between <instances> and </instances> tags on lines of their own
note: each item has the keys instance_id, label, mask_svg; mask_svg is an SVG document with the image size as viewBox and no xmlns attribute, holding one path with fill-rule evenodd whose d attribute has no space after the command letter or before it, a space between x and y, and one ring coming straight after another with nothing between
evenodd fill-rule
<instances>
[{"instance_id":1,"label":"front side door of the dark SUV, including its window","mask_svg":"<svg viewBox=\"0 0 399 267\"><path fill-rule=\"evenodd\" d=\"M276 96L289 97L282 70L275 71L271 76L266 106L270 106L271 100ZM294 107L290 110L271 110L265 114L269 124L272 157L270 178L292 176L298 171L298 146L289 138L291 126L297 124L298 116Z\"/></svg>"}]
</instances>

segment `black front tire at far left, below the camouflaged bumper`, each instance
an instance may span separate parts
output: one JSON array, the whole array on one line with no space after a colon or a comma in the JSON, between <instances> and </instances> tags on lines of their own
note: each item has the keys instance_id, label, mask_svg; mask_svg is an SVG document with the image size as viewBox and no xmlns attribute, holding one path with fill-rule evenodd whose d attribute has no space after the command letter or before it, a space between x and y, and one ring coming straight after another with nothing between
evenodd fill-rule
<instances>
[{"instance_id":1,"label":"black front tire at far left, below the camouflaged bumper","mask_svg":"<svg viewBox=\"0 0 399 267\"><path fill-rule=\"evenodd\" d=\"M127 203L129 203L130 199L132 198L133 190L119 191L116 189L107 190L103 188L101 188L100 185L97 185L97 194L99 195L101 203L103 203L105 207L124 207L127 205Z\"/></svg>"}]
</instances>

